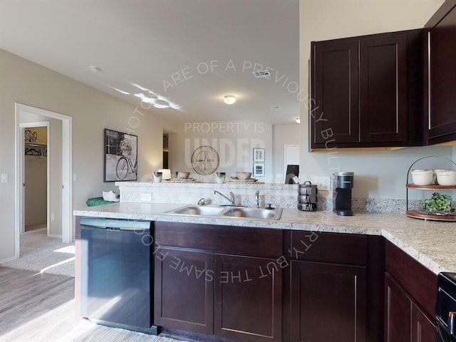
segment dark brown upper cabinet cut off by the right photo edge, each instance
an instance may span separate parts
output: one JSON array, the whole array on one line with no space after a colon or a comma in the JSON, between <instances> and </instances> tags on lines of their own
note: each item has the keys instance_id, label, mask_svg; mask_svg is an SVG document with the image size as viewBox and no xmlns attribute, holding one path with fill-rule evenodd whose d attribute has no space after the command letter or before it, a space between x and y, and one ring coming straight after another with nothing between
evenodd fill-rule
<instances>
[{"instance_id":1,"label":"dark brown upper cabinet cut off by the right photo edge","mask_svg":"<svg viewBox=\"0 0 456 342\"><path fill-rule=\"evenodd\" d=\"M447 0L425 25L427 145L456 140L456 0Z\"/></svg>"}]
</instances>

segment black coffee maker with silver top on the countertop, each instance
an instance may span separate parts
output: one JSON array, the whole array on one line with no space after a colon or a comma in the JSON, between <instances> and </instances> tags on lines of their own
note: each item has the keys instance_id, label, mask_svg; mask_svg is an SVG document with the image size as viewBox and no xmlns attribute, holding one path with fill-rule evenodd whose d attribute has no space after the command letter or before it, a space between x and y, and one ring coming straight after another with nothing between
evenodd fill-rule
<instances>
[{"instance_id":1,"label":"black coffee maker with silver top on the countertop","mask_svg":"<svg viewBox=\"0 0 456 342\"><path fill-rule=\"evenodd\" d=\"M351 190L353 189L353 172L336 172L333 174L333 212L341 216L352 216Z\"/></svg>"}]
</instances>

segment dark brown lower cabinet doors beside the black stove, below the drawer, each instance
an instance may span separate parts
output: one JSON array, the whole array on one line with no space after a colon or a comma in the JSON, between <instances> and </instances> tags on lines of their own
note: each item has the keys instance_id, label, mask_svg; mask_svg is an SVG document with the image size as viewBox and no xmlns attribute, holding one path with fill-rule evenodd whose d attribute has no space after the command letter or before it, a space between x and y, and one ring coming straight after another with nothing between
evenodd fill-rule
<instances>
[{"instance_id":1,"label":"dark brown lower cabinet doors beside the black stove, below the drawer","mask_svg":"<svg viewBox=\"0 0 456 342\"><path fill-rule=\"evenodd\" d=\"M385 342L435 342L434 323L388 273L385 301Z\"/></svg>"}]
</instances>

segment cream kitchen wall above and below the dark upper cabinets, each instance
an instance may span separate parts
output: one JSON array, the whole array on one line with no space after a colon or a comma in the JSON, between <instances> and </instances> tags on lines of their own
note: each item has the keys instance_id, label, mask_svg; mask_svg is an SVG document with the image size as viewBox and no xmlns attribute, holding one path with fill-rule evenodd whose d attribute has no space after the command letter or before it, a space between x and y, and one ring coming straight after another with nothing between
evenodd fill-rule
<instances>
[{"instance_id":1,"label":"cream kitchen wall above and below the dark upper cabinets","mask_svg":"<svg viewBox=\"0 0 456 342\"><path fill-rule=\"evenodd\" d=\"M443 0L300 0L300 83L309 91L311 41L422 28ZM355 172L353 197L405 199L408 167L427 155L452 157L452 147L412 147L388 152L309 151L309 113L301 101L301 166L315 175Z\"/></svg>"}]
</instances>

